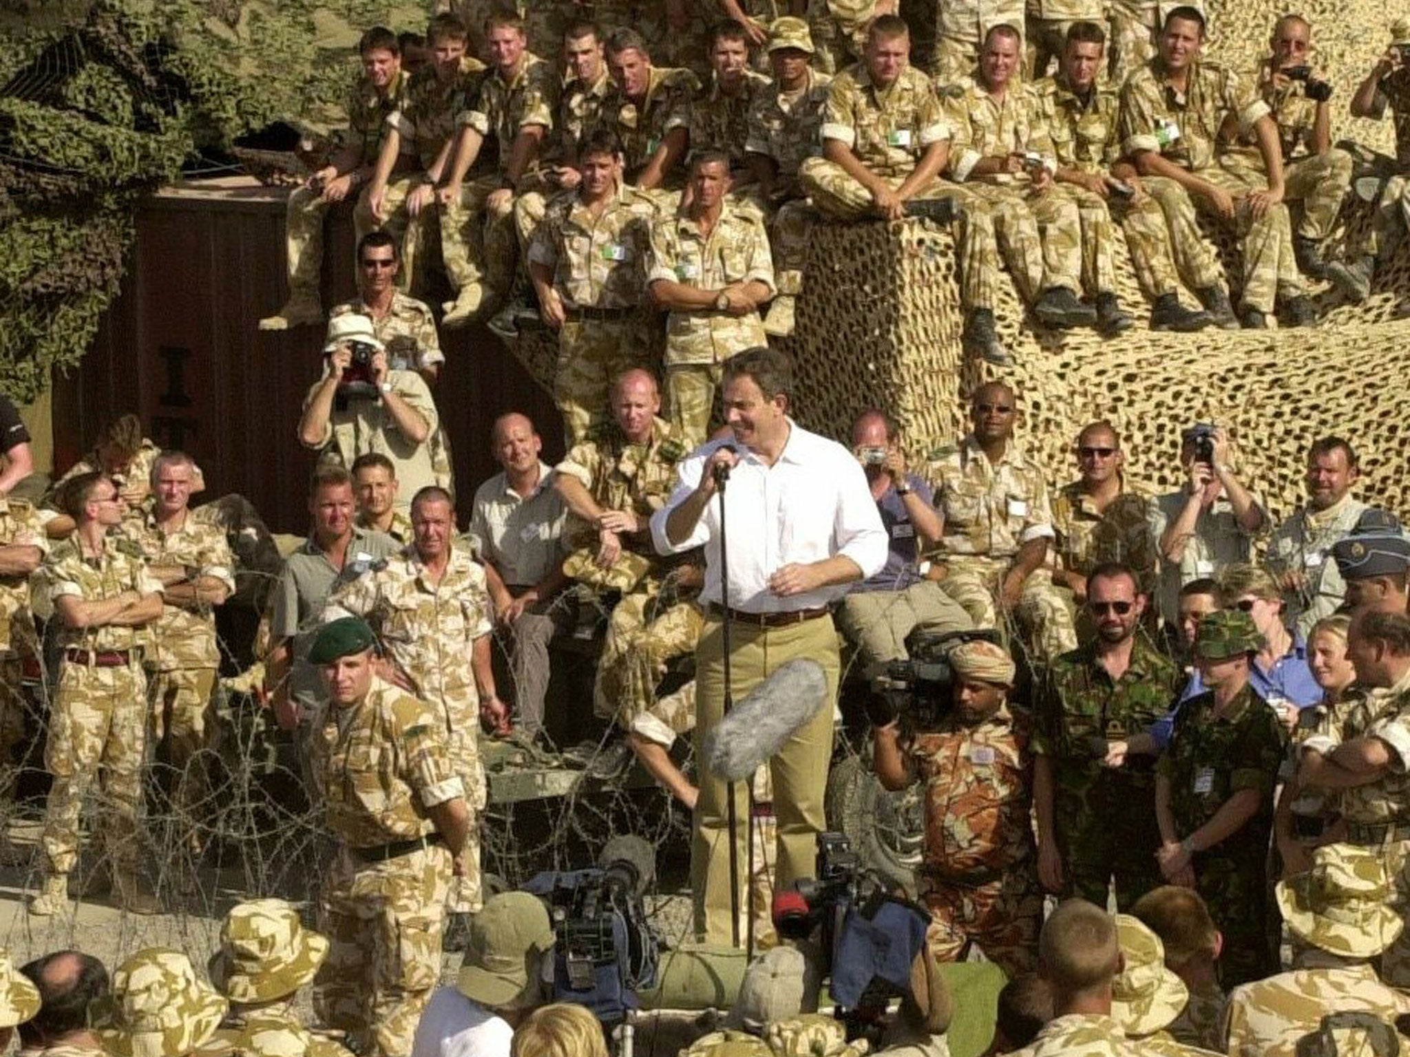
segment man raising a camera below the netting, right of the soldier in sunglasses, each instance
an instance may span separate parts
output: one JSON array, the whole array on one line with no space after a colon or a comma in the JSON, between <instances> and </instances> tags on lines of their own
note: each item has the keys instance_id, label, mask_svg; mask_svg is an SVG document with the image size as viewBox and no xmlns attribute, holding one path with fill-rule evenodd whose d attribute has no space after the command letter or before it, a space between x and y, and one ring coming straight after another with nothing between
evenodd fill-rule
<instances>
[{"instance_id":1,"label":"man raising a camera below the netting, right of the soldier in sunglasses","mask_svg":"<svg viewBox=\"0 0 1410 1057\"><path fill-rule=\"evenodd\" d=\"M1252 537L1268 526L1262 502L1234 472L1221 427L1196 423L1186 428L1180 465L1187 476L1184 488L1158 496L1151 510L1151 531L1162 558L1156 605L1166 624L1180 619L1180 588L1249 561Z\"/></svg>"}]
</instances>

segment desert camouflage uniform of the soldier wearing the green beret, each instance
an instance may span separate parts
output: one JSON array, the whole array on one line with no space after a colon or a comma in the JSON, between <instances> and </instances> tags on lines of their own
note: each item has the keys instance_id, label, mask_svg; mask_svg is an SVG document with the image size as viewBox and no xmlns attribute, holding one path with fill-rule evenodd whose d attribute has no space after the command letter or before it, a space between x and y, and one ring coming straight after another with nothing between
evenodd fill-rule
<instances>
[{"instance_id":1,"label":"desert camouflage uniform of the soldier wearing the green beret","mask_svg":"<svg viewBox=\"0 0 1410 1057\"><path fill-rule=\"evenodd\" d=\"M362 700L329 706L314 738L338 851L319 898L330 946L313 1006L367 1057L410 1054L440 981L451 854L426 809L464 795L443 727L431 706L374 678ZM423 846L375 858L413 840Z\"/></svg>"}]
</instances>

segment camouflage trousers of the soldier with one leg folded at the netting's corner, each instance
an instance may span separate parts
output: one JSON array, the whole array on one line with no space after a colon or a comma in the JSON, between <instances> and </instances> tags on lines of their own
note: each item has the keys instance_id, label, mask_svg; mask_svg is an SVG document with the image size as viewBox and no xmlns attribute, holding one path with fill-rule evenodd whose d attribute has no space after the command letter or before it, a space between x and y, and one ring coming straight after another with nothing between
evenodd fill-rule
<instances>
[{"instance_id":1,"label":"camouflage trousers of the soldier with one leg folded at the netting's corner","mask_svg":"<svg viewBox=\"0 0 1410 1057\"><path fill-rule=\"evenodd\" d=\"M840 165L825 158L808 158L798 171L804 189L814 206L839 220L876 218L871 192L849 176ZM884 178L900 187L904 176ZM970 187L936 180L919 192L916 200L955 199L959 213L955 220L955 249L959 265L960 304L966 311L993 309L998 296L998 249L994 240L994 220L986 204L970 193ZM1034 235L1036 240L1036 234Z\"/></svg>"}]
</instances>

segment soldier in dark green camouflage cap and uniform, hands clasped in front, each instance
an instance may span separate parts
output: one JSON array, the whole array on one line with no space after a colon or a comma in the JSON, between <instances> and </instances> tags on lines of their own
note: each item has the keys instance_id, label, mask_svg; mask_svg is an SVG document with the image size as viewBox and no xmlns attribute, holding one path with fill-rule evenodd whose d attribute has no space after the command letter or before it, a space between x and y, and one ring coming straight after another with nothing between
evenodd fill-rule
<instances>
[{"instance_id":1,"label":"soldier in dark green camouflage cap and uniform, hands clasped in front","mask_svg":"<svg viewBox=\"0 0 1410 1057\"><path fill-rule=\"evenodd\" d=\"M1265 864L1286 731L1248 682L1262 645L1241 610L1221 609L1200 622L1194 658L1210 689L1180 706L1156 768L1160 872L1208 903L1224 933L1225 987L1277 968Z\"/></svg>"}]
</instances>

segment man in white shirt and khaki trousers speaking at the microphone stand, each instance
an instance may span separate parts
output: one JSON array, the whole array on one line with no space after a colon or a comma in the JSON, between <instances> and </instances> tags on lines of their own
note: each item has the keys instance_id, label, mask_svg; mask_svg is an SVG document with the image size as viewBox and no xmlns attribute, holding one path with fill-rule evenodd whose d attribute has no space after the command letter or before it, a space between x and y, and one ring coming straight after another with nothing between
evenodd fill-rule
<instances>
[{"instance_id":1,"label":"man in white shirt and khaki trousers speaking at the microphone stand","mask_svg":"<svg viewBox=\"0 0 1410 1057\"><path fill-rule=\"evenodd\" d=\"M705 627L695 650L698 743L723 717L725 653L721 585L721 509L729 510L732 692L743 700L785 661L809 657L838 691L838 634L828 606L846 585L871 576L887 558L887 536L857 459L840 444L788 417L792 365L768 348L732 357L723 375L725 416L732 438L711 441L678 466L667 505L651 517L663 554L705 548ZM719 469L718 469L719 468ZM715 499L718 475L728 496ZM832 709L819 709L770 760L778 824L778 888L815 872L816 834L826 826L823 791L832 757ZM728 798L736 819L749 819L743 785L728 785L697 757L699 799L691 843L695 932L708 943L730 943L729 844L747 863L744 829L728 833ZM743 872L743 871L742 871ZM737 933L743 934L744 923Z\"/></svg>"}]
</instances>

